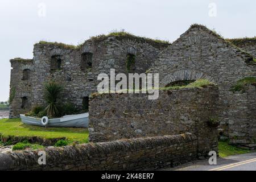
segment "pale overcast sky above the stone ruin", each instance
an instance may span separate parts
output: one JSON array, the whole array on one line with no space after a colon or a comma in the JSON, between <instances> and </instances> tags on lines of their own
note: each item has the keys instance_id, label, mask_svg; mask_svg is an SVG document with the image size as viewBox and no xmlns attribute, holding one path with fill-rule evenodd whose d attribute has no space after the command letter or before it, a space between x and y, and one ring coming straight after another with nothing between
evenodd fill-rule
<instances>
[{"instance_id":1,"label":"pale overcast sky above the stone ruin","mask_svg":"<svg viewBox=\"0 0 256 182\"><path fill-rule=\"evenodd\" d=\"M0 101L9 98L10 62L32 58L40 40L77 44L112 30L173 42L193 23L225 38L256 35L253 0L0 0Z\"/></svg>"}]
</instances>

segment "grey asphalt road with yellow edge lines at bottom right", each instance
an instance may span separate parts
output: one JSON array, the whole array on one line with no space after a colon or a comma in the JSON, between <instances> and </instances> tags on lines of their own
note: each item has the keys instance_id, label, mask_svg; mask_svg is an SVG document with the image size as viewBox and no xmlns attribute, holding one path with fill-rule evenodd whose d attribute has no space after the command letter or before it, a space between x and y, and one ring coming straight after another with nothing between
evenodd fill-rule
<instances>
[{"instance_id":1,"label":"grey asphalt road with yellow edge lines at bottom right","mask_svg":"<svg viewBox=\"0 0 256 182\"><path fill-rule=\"evenodd\" d=\"M197 160L167 171L256 171L256 152L217 158L216 165L210 165L208 160Z\"/></svg>"}]
</instances>

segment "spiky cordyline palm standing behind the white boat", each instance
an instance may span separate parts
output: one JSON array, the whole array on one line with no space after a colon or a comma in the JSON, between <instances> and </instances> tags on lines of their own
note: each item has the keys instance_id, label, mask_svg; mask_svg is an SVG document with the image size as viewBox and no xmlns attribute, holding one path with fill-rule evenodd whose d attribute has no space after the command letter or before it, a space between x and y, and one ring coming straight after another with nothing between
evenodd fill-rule
<instances>
[{"instance_id":1,"label":"spiky cordyline palm standing behind the white boat","mask_svg":"<svg viewBox=\"0 0 256 182\"><path fill-rule=\"evenodd\" d=\"M55 81L50 81L44 85L44 100L47 102L44 112L48 117L56 117L59 115L57 100L60 98L63 87Z\"/></svg>"}]
</instances>

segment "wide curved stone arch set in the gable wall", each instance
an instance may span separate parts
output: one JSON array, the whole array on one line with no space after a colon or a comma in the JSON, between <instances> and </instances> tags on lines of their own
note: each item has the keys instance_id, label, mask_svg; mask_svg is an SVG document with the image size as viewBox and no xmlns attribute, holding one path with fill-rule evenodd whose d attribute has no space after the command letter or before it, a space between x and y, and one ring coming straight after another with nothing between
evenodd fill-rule
<instances>
[{"instance_id":1,"label":"wide curved stone arch set in the gable wall","mask_svg":"<svg viewBox=\"0 0 256 182\"><path fill-rule=\"evenodd\" d=\"M175 81L198 79L207 79L210 82L215 82L213 77L208 76L206 73L186 69L167 74L160 81L160 86L166 86L167 84L170 84L171 82Z\"/></svg>"}]
</instances>

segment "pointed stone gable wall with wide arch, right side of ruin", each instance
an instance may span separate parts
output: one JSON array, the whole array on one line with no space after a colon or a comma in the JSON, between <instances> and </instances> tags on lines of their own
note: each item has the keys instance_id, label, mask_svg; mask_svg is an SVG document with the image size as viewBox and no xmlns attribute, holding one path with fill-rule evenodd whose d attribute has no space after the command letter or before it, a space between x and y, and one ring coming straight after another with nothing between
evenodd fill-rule
<instances>
[{"instance_id":1,"label":"pointed stone gable wall with wide arch, right side of ruin","mask_svg":"<svg viewBox=\"0 0 256 182\"><path fill-rule=\"evenodd\" d=\"M243 125L241 118L234 119L233 113L229 112L232 100L237 99L236 94L229 90L241 78L255 77L256 64L251 55L234 47L208 28L199 25L189 28L160 53L151 72L161 73L160 86L199 78L216 83L220 90L220 132L226 137L232 137L229 135L229 122L235 122L237 126ZM236 111L243 112L239 109ZM250 121L247 117L243 119ZM238 139L237 142L239 141Z\"/></svg>"}]
</instances>

